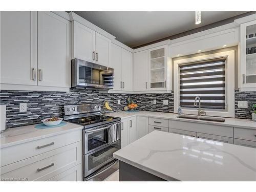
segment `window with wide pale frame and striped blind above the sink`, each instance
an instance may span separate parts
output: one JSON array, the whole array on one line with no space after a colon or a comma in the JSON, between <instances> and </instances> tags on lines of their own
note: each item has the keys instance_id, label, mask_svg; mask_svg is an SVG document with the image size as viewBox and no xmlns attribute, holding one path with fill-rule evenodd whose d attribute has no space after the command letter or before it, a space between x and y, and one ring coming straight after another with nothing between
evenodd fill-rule
<instances>
[{"instance_id":1,"label":"window with wide pale frame and striped blind above the sink","mask_svg":"<svg viewBox=\"0 0 256 192\"><path fill-rule=\"evenodd\" d=\"M234 117L235 51L174 59L174 113L198 114L195 97L207 116Z\"/></svg>"}]
</instances>

